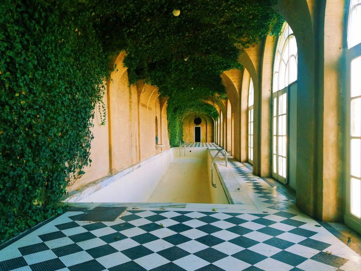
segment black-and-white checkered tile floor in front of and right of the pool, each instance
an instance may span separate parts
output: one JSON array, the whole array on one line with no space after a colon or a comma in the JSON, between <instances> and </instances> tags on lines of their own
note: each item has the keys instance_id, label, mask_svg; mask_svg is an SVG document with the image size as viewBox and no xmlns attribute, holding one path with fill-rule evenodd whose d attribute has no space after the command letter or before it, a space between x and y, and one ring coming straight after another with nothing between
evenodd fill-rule
<instances>
[{"instance_id":1,"label":"black-and-white checkered tile floor in front of and right of the pool","mask_svg":"<svg viewBox=\"0 0 361 271\"><path fill-rule=\"evenodd\" d=\"M114 222L79 221L88 210L68 211L0 250L0 270L361 270L361 256L284 189L229 165L257 211L139 204Z\"/></svg>"}]
</instances>

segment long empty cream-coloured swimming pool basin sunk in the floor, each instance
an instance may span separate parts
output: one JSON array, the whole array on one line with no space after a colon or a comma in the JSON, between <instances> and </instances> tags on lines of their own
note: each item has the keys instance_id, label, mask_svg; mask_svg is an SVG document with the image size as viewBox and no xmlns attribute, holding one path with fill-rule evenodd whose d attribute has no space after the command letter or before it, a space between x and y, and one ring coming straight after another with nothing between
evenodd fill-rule
<instances>
[{"instance_id":1,"label":"long empty cream-coloured swimming pool basin sunk in the floor","mask_svg":"<svg viewBox=\"0 0 361 271\"><path fill-rule=\"evenodd\" d=\"M228 204L208 148L173 148L72 193L68 202L174 202Z\"/></svg>"}]
</instances>

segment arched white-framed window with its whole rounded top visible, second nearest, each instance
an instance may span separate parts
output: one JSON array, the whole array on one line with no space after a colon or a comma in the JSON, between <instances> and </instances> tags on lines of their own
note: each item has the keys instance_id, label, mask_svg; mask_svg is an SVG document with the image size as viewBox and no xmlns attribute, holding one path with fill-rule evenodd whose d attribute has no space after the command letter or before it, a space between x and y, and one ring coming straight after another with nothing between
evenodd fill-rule
<instances>
[{"instance_id":1,"label":"arched white-framed window with its whole rounded top visible, second nearest","mask_svg":"<svg viewBox=\"0 0 361 271\"><path fill-rule=\"evenodd\" d=\"M288 86L297 80L297 43L285 23L278 38L273 67L272 173L277 180L287 179L287 100Z\"/></svg>"}]
</instances>

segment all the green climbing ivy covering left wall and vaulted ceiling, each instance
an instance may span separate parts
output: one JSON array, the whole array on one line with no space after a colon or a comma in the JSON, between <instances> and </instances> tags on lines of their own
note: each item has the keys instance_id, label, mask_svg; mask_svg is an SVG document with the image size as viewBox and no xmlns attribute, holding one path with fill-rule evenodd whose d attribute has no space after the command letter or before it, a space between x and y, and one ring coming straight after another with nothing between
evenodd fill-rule
<instances>
[{"instance_id":1,"label":"all the green climbing ivy covering left wall and vaulted ceiling","mask_svg":"<svg viewBox=\"0 0 361 271\"><path fill-rule=\"evenodd\" d=\"M130 83L143 80L169 97L176 146L185 115L218 117L203 101L224 96L220 75L242 68L240 51L279 31L276 2L3 0L0 241L62 212L66 186L91 162L95 105L120 51Z\"/></svg>"}]
</instances>

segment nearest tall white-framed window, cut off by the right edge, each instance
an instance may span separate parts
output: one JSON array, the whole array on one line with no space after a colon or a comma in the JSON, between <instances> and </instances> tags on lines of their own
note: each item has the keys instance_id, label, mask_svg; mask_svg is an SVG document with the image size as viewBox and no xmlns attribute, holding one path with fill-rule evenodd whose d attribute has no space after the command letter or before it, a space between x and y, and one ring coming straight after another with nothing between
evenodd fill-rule
<instances>
[{"instance_id":1,"label":"nearest tall white-framed window, cut off by the right edge","mask_svg":"<svg viewBox=\"0 0 361 271\"><path fill-rule=\"evenodd\" d=\"M351 0L347 29L349 174L345 222L361 224L361 0ZM347 219L347 216L351 219ZM350 225L352 226L352 225Z\"/></svg>"}]
</instances>

